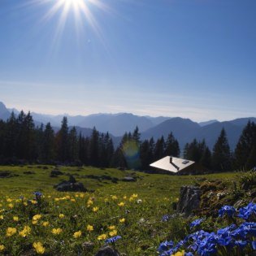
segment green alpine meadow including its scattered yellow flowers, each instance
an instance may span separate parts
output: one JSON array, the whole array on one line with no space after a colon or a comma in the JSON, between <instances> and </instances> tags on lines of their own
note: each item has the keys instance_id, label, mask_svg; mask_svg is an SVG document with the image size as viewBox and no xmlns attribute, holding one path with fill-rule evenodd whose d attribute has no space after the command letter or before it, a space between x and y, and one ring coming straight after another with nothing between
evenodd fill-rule
<instances>
[{"instance_id":1,"label":"green alpine meadow including its scattered yellow flowers","mask_svg":"<svg viewBox=\"0 0 256 256\"><path fill-rule=\"evenodd\" d=\"M54 166L0 167L0 171L11 171L11 176L0 178L0 246L4 246L0 254L40 254L33 247L40 241L44 255L94 255L105 245L99 237L104 234L107 238L122 236L115 248L123 256L158 255L161 241L178 240L189 232L191 219L161 221L163 215L173 214L171 204L177 202L182 185L202 178L226 180L227 184L237 179L235 172L168 176L94 167L59 167L63 175L50 177L52 170ZM56 191L54 184L68 180L68 175L89 192ZM125 176L136 176L137 181L125 182ZM43 193L41 202L33 201L34 191ZM25 226L29 232L24 236ZM8 236L7 228L15 228L15 233ZM54 228L62 232L54 234Z\"/></svg>"}]
</instances>

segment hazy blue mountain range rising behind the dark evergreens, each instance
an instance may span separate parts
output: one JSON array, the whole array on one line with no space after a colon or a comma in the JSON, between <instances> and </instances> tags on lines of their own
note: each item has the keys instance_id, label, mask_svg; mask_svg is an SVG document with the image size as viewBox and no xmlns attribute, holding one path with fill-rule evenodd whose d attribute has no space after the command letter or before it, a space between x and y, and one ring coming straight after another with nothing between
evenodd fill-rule
<instances>
[{"instance_id":1,"label":"hazy blue mountain range rising behind the dark evergreens","mask_svg":"<svg viewBox=\"0 0 256 256\"><path fill-rule=\"evenodd\" d=\"M7 109L0 102L0 119L7 120L15 109ZM50 124L57 130L60 127L64 115L43 115L31 113L36 125ZM184 149L187 142L193 141L196 138L199 141L206 140L206 145L212 149L215 141L219 137L222 128L225 128L228 136L228 143L234 150L236 143L241 135L241 132L249 119L256 123L256 118L248 117L234 119L230 121L219 122L218 120L209 120L206 122L193 122L191 119L183 119L180 117L150 117L138 116L128 113L119 114L95 114L95 115L65 115L67 116L68 124L76 126L77 132L82 132L84 136L89 136L92 128L95 127L99 132L110 132L115 145L119 144L124 132L132 132L138 126L141 132L141 139L149 139L154 137L157 140L159 137L167 137L172 132L179 141L180 149Z\"/></svg>"}]
</instances>

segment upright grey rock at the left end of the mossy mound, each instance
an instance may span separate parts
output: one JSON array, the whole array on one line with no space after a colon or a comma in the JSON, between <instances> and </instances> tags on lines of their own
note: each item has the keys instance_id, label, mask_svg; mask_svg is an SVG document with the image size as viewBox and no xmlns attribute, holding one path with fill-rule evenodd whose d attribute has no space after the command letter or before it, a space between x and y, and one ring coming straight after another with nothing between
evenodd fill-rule
<instances>
[{"instance_id":1,"label":"upright grey rock at the left end of the mossy mound","mask_svg":"<svg viewBox=\"0 0 256 256\"><path fill-rule=\"evenodd\" d=\"M180 188L180 200L177 211L184 214L185 217L193 215L193 210L197 210L200 207L201 194L202 191L199 187L182 186Z\"/></svg>"}]
</instances>

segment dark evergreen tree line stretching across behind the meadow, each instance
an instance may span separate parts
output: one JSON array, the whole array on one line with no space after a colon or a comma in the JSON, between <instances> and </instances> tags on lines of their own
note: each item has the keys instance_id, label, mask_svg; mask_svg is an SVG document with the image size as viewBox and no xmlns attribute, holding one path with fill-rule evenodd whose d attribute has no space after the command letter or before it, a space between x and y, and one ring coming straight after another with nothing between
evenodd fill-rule
<instances>
[{"instance_id":1,"label":"dark evergreen tree line stretching across behind the meadow","mask_svg":"<svg viewBox=\"0 0 256 256\"><path fill-rule=\"evenodd\" d=\"M21 111L12 112L7 121L0 120L0 163L65 163L94 167L123 167L148 170L150 163L167 155L180 157L180 145L172 132L165 139L141 141L138 128L125 132L119 145L114 147L108 132L93 128L85 137L76 128L69 128L63 117L61 128L54 132L50 123L35 126L33 117ZM200 163L208 170L230 171L251 169L256 166L256 125L248 122L232 152L224 129L211 151L206 141L184 146L181 157Z\"/></svg>"}]
</instances>

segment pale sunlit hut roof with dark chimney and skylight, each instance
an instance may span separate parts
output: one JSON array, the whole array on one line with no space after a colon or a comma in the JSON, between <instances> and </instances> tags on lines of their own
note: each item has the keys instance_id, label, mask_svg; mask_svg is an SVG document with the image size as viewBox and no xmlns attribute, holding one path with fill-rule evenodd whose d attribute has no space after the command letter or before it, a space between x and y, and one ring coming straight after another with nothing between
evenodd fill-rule
<instances>
[{"instance_id":1,"label":"pale sunlit hut roof with dark chimney and skylight","mask_svg":"<svg viewBox=\"0 0 256 256\"><path fill-rule=\"evenodd\" d=\"M189 167L193 163L194 162L190 160L167 156L154 163L151 163L150 167L156 167L158 169L162 169L165 171L178 172L183 170L186 167Z\"/></svg>"}]
</instances>

